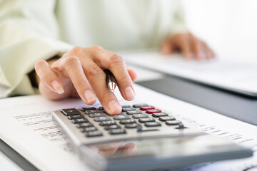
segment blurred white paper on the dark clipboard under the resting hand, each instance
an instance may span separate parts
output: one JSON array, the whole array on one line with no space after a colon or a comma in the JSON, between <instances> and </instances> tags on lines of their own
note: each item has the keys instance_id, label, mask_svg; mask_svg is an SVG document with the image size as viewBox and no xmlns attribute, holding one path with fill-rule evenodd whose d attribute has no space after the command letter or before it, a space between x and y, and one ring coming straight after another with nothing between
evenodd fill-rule
<instances>
[{"instance_id":1,"label":"blurred white paper on the dark clipboard under the resting hand","mask_svg":"<svg viewBox=\"0 0 257 171\"><path fill-rule=\"evenodd\" d=\"M126 63L188 78L211 86L257 96L257 63L241 64L220 58L188 61L180 54L161 56L157 51L121 53Z\"/></svg>"}]
</instances>

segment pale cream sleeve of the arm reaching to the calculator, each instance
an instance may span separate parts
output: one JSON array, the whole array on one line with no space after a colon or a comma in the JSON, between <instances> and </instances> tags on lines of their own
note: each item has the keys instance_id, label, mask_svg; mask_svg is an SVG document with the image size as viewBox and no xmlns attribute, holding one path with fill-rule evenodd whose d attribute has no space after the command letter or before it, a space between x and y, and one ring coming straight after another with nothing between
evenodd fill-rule
<instances>
[{"instance_id":1,"label":"pale cream sleeve of the arm reaching to the calculator","mask_svg":"<svg viewBox=\"0 0 257 171\"><path fill-rule=\"evenodd\" d=\"M28 73L39 59L69 51L59 41L54 0L0 0L0 98L34 94Z\"/></svg>"}]
</instances>

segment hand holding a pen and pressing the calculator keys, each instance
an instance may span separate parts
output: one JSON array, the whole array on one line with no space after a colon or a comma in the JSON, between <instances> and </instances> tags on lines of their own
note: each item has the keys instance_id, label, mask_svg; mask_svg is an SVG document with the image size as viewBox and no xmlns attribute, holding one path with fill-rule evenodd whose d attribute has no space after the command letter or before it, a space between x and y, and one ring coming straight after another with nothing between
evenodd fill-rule
<instances>
[{"instance_id":1,"label":"hand holding a pen and pressing the calculator keys","mask_svg":"<svg viewBox=\"0 0 257 171\"><path fill-rule=\"evenodd\" d=\"M121 113L121 105L106 86L103 69L109 69L116 77L121 95L126 100L135 96L133 81L136 73L127 70L124 58L99 46L72 48L54 61L38 61L35 71L39 76L39 90L51 100L80 97L92 105L96 97L109 114Z\"/></svg>"}]
</instances>

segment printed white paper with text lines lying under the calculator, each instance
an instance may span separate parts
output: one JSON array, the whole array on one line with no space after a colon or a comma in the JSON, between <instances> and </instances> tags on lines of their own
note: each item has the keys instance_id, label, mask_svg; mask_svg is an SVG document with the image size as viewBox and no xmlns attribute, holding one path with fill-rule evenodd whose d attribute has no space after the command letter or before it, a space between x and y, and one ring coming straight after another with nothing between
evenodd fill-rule
<instances>
[{"instance_id":1,"label":"printed white paper with text lines lying under the calculator","mask_svg":"<svg viewBox=\"0 0 257 171\"><path fill-rule=\"evenodd\" d=\"M122 104L148 103L166 110L177 118L188 120L201 130L226 140L251 147L254 157L242 160L211 162L186 170L244 170L257 165L257 128L226 116L213 113L181 100L135 85L136 100ZM116 90L117 91L117 90ZM94 106L100 105L96 103ZM52 119L51 111L62 108L81 108L79 99L49 101L41 95L0 100L0 138L23 155L39 170L92 170L74 153Z\"/></svg>"}]
</instances>

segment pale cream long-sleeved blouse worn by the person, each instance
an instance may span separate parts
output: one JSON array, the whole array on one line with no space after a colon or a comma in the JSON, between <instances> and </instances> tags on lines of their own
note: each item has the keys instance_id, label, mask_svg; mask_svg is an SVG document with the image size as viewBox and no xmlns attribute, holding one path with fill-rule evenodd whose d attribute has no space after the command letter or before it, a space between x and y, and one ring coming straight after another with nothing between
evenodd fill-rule
<instances>
[{"instance_id":1,"label":"pale cream long-sleeved blouse worn by the person","mask_svg":"<svg viewBox=\"0 0 257 171\"><path fill-rule=\"evenodd\" d=\"M180 0L0 0L0 97L34 94L34 63L73 46L156 48L185 30Z\"/></svg>"}]
</instances>

